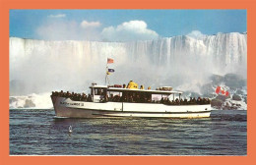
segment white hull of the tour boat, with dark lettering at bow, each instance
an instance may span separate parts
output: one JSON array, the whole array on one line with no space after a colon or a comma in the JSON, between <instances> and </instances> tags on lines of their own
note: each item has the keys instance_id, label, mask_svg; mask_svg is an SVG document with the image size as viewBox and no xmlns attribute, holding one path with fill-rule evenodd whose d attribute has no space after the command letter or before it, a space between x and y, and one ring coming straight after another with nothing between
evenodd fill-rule
<instances>
[{"instance_id":1,"label":"white hull of the tour boat, with dark lettering at bow","mask_svg":"<svg viewBox=\"0 0 256 165\"><path fill-rule=\"evenodd\" d=\"M57 117L67 118L207 118L211 105L164 105L159 103L84 102L52 96Z\"/></svg>"}]
</instances>

